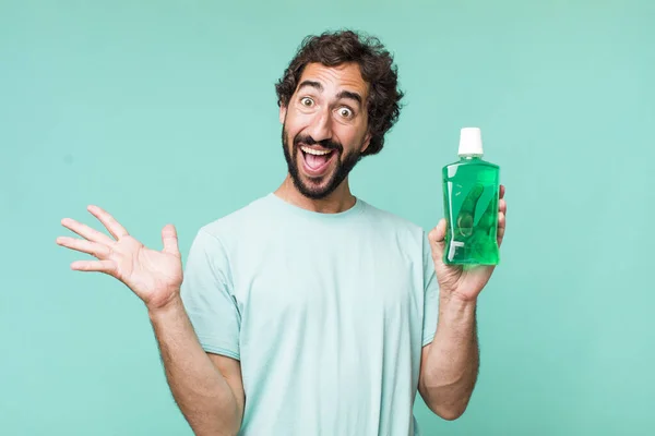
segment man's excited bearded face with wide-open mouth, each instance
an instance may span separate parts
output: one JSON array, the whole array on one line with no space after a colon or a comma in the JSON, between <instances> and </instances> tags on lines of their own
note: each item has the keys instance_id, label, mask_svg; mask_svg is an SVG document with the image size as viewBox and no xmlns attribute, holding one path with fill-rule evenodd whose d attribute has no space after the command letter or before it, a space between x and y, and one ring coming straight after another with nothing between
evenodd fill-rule
<instances>
[{"instance_id":1,"label":"man's excited bearded face with wide-open mouth","mask_svg":"<svg viewBox=\"0 0 655 436\"><path fill-rule=\"evenodd\" d=\"M305 68L288 106L279 109L284 156L302 195L327 196L368 147L367 98L356 63Z\"/></svg>"}]
</instances>

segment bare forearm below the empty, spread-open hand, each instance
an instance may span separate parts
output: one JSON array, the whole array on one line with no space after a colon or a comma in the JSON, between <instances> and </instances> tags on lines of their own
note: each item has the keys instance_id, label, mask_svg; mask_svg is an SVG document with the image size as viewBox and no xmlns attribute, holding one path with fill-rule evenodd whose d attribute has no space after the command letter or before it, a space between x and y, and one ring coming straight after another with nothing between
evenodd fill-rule
<instances>
[{"instance_id":1,"label":"bare forearm below the empty, spread-open hand","mask_svg":"<svg viewBox=\"0 0 655 436\"><path fill-rule=\"evenodd\" d=\"M148 315L168 385L194 434L236 435L241 407L200 346L181 300Z\"/></svg>"}]
</instances>

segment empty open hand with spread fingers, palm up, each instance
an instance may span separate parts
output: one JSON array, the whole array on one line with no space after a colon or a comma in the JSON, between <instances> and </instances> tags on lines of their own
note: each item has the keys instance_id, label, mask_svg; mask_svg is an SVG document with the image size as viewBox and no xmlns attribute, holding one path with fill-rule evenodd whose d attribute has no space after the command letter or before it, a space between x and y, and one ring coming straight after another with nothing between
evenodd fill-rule
<instances>
[{"instance_id":1,"label":"empty open hand with spread fingers, palm up","mask_svg":"<svg viewBox=\"0 0 655 436\"><path fill-rule=\"evenodd\" d=\"M164 250L147 249L132 238L107 211L88 206L114 239L71 218L61 225L84 239L59 237L57 243L71 250L91 254L94 261L76 261L71 269L104 272L122 281L148 307L157 310L179 295L182 282L182 262L177 232L172 225L162 230Z\"/></svg>"}]
</instances>

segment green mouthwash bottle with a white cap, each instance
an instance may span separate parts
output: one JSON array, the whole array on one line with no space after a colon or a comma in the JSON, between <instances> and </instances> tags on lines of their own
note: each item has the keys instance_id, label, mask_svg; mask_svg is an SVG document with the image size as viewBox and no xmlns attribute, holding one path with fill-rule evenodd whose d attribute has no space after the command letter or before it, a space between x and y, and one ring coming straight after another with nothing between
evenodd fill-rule
<instances>
[{"instance_id":1,"label":"green mouthwash bottle with a white cap","mask_svg":"<svg viewBox=\"0 0 655 436\"><path fill-rule=\"evenodd\" d=\"M483 160L478 128L462 129L458 156L458 161L443 167L443 263L497 265L500 168Z\"/></svg>"}]
</instances>

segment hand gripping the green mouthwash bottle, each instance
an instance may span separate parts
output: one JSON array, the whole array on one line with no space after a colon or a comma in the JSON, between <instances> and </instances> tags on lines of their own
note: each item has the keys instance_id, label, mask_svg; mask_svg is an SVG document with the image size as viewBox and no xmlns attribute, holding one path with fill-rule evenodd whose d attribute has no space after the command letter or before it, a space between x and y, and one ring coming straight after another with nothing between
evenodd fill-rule
<instances>
[{"instance_id":1,"label":"hand gripping the green mouthwash bottle","mask_svg":"<svg viewBox=\"0 0 655 436\"><path fill-rule=\"evenodd\" d=\"M504 186L500 186L499 192L499 202L498 202L498 229L497 229L497 240L498 245L502 243L502 239L504 237L505 231L505 214L507 214L507 203L504 201ZM477 202L477 197L479 197L479 193L473 193L471 198L466 201ZM468 205L471 206L471 205ZM463 207L463 209L474 209L473 207ZM496 211L491 209L487 209L481 217L480 221L492 222L492 215ZM458 217L458 226L464 229L464 233L467 232L467 229L471 229L473 226L473 217L471 217L471 226L467 226L468 220L467 215L462 215ZM468 231L466 237L472 235L473 229ZM445 219L441 219L437 227L434 227L430 233L428 234L428 239L430 241L430 245L432 249L432 261L434 262L434 270L437 271L437 278L439 280L439 287L442 292L445 292L449 296L456 296L463 301L474 301L477 299L478 294L481 292L483 288L489 281L491 274L493 272L495 266L492 265L479 265L474 267L463 267L461 265L445 265L443 263L443 250L444 250L444 239L446 232L446 221ZM487 231L485 231L487 233ZM473 234L473 238L486 238L486 235Z\"/></svg>"}]
</instances>

